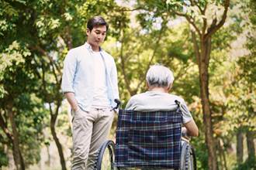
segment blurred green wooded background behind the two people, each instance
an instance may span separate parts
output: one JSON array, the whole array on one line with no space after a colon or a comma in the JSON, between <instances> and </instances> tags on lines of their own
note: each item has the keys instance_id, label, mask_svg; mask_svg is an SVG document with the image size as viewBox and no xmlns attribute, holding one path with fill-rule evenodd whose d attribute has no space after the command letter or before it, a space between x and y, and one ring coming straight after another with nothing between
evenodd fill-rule
<instances>
[{"instance_id":1,"label":"blurred green wooded background behind the two people","mask_svg":"<svg viewBox=\"0 0 256 170\"><path fill-rule=\"evenodd\" d=\"M198 169L256 169L254 0L1 0L0 169L70 169L63 61L94 15L109 22L123 107L150 65L168 66L199 126Z\"/></svg>"}]
</instances>

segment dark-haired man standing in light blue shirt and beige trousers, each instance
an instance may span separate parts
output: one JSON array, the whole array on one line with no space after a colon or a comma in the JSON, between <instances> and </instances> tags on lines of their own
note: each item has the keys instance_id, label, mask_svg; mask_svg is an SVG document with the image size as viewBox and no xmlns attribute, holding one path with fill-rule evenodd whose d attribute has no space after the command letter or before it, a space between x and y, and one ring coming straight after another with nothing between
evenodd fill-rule
<instances>
[{"instance_id":1,"label":"dark-haired man standing in light blue shirt and beige trousers","mask_svg":"<svg viewBox=\"0 0 256 170\"><path fill-rule=\"evenodd\" d=\"M72 169L93 169L97 150L106 141L119 99L116 64L100 44L108 24L101 16L87 23L87 42L64 60L61 88L73 116Z\"/></svg>"}]
</instances>

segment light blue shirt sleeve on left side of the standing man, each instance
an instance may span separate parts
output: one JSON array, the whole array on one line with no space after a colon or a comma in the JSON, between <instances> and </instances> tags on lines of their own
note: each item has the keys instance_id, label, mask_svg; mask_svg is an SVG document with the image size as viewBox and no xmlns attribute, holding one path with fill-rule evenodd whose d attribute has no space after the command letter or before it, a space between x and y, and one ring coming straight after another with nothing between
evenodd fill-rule
<instances>
[{"instance_id":1,"label":"light blue shirt sleeve on left side of the standing man","mask_svg":"<svg viewBox=\"0 0 256 170\"><path fill-rule=\"evenodd\" d=\"M61 90L63 93L73 92L74 93L74 75L76 71L76 57L72 50L67 53L64 59L64 69L61 82Z\"/></svg>"}]
</instances>

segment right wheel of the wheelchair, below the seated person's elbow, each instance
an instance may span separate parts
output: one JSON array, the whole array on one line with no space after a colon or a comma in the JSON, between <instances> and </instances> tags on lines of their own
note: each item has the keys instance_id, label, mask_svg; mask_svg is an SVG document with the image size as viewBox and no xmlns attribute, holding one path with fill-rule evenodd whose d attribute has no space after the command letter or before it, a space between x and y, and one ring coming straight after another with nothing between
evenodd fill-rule
<instances>
[{"instance_id":1,"label":"right wheel of the wheelchair, below the seated person's elbow","mask_svg":"<svg viewBox=\"0 0 256 170\"><path fill-rule=\"evenodd\" d=\"M188 142L182 142L181 170L196 170L195 151Z\"/></svg>"}]
</instances>

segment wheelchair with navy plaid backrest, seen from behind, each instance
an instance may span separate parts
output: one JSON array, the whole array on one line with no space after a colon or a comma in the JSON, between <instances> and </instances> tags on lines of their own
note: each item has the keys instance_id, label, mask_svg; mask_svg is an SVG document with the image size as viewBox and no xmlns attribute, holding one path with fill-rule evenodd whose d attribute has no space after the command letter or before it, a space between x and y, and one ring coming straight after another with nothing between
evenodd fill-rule
<instances>
[{"instance_id":1,"label":"wheelchair with navy plaid backrest, seen from behind","mask_svg":"<svg viewBox=\"0 0 256 170\"><path fill-rule=\"evenodd\" d=\"M182 114L179 102L176 104L177 110L173 111L120 109L116 143L109 140L99 148L95 169L195 170L195 151L181 131Z\"/></svg>"}]
</instances>

